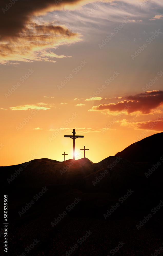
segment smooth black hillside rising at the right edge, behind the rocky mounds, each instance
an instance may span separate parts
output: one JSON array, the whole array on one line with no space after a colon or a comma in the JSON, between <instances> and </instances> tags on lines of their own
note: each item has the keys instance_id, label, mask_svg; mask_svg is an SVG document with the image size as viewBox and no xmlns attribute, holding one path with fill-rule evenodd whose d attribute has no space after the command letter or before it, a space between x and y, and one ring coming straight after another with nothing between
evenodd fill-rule
<instances>
[{"instance_id":1,"label":"smooth black hillside rising at the right edge, behind the rocky mounds","mask_svg":"<svg viewBox=\"0 0 163 256\"><path fill-rule=\"evenodd\" d=\"M163 155L163 132L156 133L126 147L115 156L120 156L131 162L157 163Z\"/></svg>"}]
</instances>

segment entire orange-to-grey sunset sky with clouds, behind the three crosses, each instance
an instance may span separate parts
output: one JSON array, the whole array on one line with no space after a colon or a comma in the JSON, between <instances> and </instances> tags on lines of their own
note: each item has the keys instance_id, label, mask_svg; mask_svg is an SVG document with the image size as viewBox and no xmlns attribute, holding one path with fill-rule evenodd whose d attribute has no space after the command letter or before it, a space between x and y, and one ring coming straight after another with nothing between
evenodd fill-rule
<instances>
[{"instance_id":1,"label":"entire orange-to-grey sunset sky with clouds, behind the three crosses","mask_svg":"<svg viewBox=\"0 0 163 256\"><path fill-rule=\"evenodd\" d=\"M73 129L94 163L162 132L162 0L1 8L1 166L72 159Z\"/></svg>"}]
</instances>

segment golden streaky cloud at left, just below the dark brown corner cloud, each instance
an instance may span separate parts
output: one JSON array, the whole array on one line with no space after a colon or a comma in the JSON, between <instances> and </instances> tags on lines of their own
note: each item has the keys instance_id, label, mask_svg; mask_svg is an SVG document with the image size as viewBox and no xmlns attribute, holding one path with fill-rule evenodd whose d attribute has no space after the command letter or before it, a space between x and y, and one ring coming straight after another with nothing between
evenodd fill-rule
<instances>
[{"instance_id":1,"label":"golden streaky cloud at left, just below the dark brown corner cloud","mask_svg":"<svg viewBox=\"0 0 163 256\"><path fill-rule=\"evenodd\" d=\"M28 31L28 32L27 32ZM56 26L54 23L38 24L31 22L17 37L9 40L1 39L1 63L8 61L52 61L54 58L72 56L57 55L51 48L69 45L81 41L78 33L73 33L65 25Z\"/></svg>"}]
</instances>

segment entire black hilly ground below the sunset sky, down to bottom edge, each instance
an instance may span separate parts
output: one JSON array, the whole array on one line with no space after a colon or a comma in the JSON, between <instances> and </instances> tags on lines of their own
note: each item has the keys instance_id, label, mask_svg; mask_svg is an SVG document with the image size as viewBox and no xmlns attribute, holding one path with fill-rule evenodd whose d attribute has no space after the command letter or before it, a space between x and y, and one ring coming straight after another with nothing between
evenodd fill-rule
<instances>
[{"instance_id":1,"label":"entire black hilly ground below the sunset sky, down to bottom edge","mask_svg":"<svg viewBox=\"0 0 163 256\"><path fill-rule=\"evenodd\" d=\"M87 231L91 235L72 255L110 255L119 241L124 246L117 255L154 253L162 244L163 207L152 212L139 230L136 225L163 200L163 158L156 165L163 154L158 147L162 134L99 163L88 158L64 162L42 158L0 167L0 186L8 195L9 256L24 255L34 239L39 243L31 256L67 256Z\"/></svg>"}]
</instances>

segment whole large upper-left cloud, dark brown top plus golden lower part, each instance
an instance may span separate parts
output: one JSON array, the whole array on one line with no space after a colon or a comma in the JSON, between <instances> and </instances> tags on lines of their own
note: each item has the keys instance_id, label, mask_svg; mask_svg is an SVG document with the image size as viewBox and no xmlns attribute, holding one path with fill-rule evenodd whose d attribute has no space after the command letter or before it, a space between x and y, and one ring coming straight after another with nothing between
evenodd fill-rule
<instances>
[{"instance_id":1,"label":"whole large upper-left cloud, dark brown top plus golden lower part","mask_svg":"<svg viewBox=\"0 0 163 256\"><path fill-rule=\"evenodd\" d=\"M72 9L73 6L86 4L85 0L1 0L0 3L1 63L15 60L54 61L51 58L71 57L57 56L50 48L80 41L80 34L73 33L64 25L50 24L36 17L54 10Z\"/></svg>"}]
</instances>

